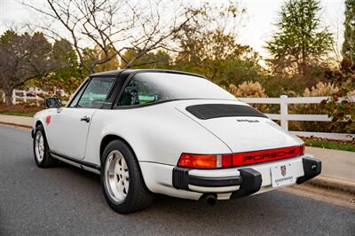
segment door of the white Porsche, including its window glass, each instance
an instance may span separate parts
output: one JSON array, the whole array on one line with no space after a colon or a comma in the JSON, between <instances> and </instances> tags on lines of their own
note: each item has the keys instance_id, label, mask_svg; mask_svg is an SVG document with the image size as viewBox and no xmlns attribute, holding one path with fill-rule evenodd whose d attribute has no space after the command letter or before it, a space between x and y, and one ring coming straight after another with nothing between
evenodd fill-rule
<instances>
[{"instance_id":1,"label":"door of the white Porsche, including its window glass","mask_svg":"<svg viewBox=\"0 0 355 236\"><path fill-rule=\"evenodd\" d=\"M91 77L87 85L77 91L70 107L57 109L47 127L51 151L84 158L92 116L104 105L114 80L114 77Z\"/></svg>"}]
</instances>

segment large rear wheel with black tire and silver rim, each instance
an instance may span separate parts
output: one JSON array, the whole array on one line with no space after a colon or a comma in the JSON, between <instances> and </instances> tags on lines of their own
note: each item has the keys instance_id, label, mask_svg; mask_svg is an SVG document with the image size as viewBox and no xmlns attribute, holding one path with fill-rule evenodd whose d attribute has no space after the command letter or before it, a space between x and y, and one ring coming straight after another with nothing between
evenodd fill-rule
<instances>
[{"instance_id":1,"label":"large rear wheel with black tire and silver rim","mask_svg":"<svg viewBox=\"0 0 355 236\"><path fill-rule=\"evenodd\" d=\"M143 181L138 161L120 140L109 143L101 157L101 187L108 205L118 213L149 207L154 200Z\"/></svg>"}]
</instances>

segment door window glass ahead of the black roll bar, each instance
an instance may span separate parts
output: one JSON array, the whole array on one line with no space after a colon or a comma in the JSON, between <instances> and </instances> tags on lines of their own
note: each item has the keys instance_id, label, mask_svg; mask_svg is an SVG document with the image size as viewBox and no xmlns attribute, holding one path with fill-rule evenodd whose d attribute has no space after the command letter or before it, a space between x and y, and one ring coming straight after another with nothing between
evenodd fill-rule
<instances>
[{"instance_id":1,"label":"door window glass ahead of the black roll bar","mask_svg":"<svg viewBox=\"0 0 355 236\"><path fill-rule=\"evenodd\" d=\"M85 108L101 107L113 84L114 78L92 78L83 91L77 106Z\"/></svg>"}]
</instances>

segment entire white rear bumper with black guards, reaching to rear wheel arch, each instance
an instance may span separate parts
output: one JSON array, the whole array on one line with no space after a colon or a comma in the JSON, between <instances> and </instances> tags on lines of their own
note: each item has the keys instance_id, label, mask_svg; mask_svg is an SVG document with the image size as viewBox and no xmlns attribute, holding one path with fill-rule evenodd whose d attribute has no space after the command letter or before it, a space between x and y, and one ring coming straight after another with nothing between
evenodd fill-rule
<instances>
[{"instance_id":1,"label":"entire white rear bumper with black guards, reaching to rear wheel arch","mask_svg":"<svg viewBox=\"0 0 355 236\"><path fill-rule=\"evenodd\" d=\"M308 154L230 169L181 169L162 163L139 161L150 191L191 200L199 200L206 193L216 193L217 198L222 200L271 191L275 189L272 187L272 167L284 164L291 164L296 170L293 173L296 182L293 184L302 184L321 171L321 162Z\"/></svg>"}]
</instances>

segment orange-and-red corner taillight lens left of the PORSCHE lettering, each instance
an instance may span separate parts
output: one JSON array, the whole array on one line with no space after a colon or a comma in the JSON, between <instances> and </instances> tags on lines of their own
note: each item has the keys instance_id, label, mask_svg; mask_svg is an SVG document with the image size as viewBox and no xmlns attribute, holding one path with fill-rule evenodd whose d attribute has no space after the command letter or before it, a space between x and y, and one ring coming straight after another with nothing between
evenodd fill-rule
<instances>
[{"instance_id":1,"label":"orange-and-red corner taillight lens left of the PORSCHE lettering","mask_svg":"<svg viewBox=\"0 0 355 236\"><path fill-rule=\"evenodd\" d=\"M179 167L196 168L196 169L215 169L231 167L232 155L209 155L209 154L189 154L182 153L177 162Z\"/></svg>"}]
</instances>

